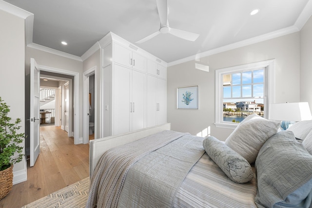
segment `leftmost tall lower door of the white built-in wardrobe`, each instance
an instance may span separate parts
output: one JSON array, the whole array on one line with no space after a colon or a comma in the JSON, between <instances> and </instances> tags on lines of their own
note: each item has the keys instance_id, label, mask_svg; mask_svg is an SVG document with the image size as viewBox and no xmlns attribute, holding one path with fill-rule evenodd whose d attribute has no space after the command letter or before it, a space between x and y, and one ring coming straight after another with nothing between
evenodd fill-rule
<instances>
[{"instance_id":1,"label":"leftmost tall lower door of the white built-in wardrobe","mask_svg":"<svg viewBox=\"0 0 312 208\"><path fill-rule=\"evenodd\" d=\"M114 64L113 135L130 132L131 69Z\"/></svg>"}]
</instances>

